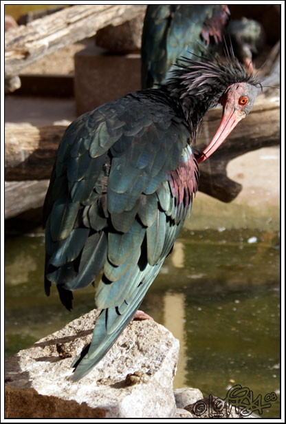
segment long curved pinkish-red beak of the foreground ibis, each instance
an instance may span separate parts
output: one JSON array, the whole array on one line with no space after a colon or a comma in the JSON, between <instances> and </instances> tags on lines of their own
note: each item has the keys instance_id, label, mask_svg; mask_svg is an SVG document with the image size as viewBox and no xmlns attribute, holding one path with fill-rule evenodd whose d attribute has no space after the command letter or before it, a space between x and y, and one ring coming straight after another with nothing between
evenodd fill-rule
<instances>
[{"instance_id":1,"label":"long curved pinkish-red beak of the foreground ibis","mask_svg":"<svg viewBox=\"0 0 286 424\"><path fill-rule=\"evenodd\" d=\"M221 145L221 143L228 137L228 135L232 132L232 129L239 123L241 119L245 117L245 114L241 113L238 110L235 110L233 105L226 105L223 110L223 116L221 118L221 123L219 124L219 128L217 132L214 134L214 138L203 150L202 153L197 156L197 163L203 162L209 158L214 151Z\"/></svg>"}]
</instances>

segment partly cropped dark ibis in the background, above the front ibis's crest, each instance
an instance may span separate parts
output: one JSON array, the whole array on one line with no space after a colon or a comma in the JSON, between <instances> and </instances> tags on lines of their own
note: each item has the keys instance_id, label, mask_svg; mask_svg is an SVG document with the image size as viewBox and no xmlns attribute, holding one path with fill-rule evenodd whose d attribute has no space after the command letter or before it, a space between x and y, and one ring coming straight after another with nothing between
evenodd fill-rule
<instances>
[{"instance_id":1,"label":"partly cropped dark ibis in the background, above the front ibis's crest","mask_svg":"<svg viewBox=\"0 0 286 424\"><path fill-rule=\"evenodd\" d=\"M177 58L213 53L230 14L217 4L148 5L142 32L142 88L172 76Z\"/></svg>"}]
</instances>

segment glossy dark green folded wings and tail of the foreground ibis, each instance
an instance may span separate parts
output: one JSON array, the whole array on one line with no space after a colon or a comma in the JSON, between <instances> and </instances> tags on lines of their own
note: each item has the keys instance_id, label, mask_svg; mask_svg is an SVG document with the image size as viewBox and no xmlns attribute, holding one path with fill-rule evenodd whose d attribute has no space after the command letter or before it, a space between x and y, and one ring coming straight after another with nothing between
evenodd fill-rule
<instances>
[{"instance_id":1,"label":"glossy dark green folded wings and tail of the foreground ibis","mask_svg":"<svg viewBox=\"0 0 286 424\"><path fill-rule=\"evenodd\" d=\"M45 202L46 292L56 283L71 308L71 290L93 282L103 268L96 293L103 311L74 379L128 324L191 203L192 187L179 198L184 189L175 171L182 158L192 158L188 129L167 105L143 97L115 100L67 129Z\"/></svg>"}]
</instances>

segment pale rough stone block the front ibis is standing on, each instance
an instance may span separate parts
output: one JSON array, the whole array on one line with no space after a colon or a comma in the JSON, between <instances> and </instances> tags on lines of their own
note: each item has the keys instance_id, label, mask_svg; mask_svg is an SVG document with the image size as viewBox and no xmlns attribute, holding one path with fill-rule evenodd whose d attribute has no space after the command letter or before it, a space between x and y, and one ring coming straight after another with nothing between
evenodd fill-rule
<instances>
[{"instance_id":1,"label":"pale rough stone block the front ibis is standing on","mask_svg":"<svg viewBox=\"0 0 286 424\"><path fill-rule=\"evenodd\" d=\"M71 381L98 315L92 310L7 359L5 418L192 418L203 395L173 391L179 341L155 321L131 321L94 370Z\"/></svg>"}]
</instances>

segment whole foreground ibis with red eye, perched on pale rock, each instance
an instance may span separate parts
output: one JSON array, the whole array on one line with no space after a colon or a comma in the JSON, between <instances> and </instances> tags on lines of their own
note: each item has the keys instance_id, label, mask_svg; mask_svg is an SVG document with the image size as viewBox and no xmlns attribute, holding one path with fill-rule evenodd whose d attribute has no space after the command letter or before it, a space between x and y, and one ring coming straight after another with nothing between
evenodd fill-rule
<instances>
[{"instance_id":1,"label":"whole foreground ibis with red eye, perched on pale rock","mask_svg":"<svg viewBox=\"0 0 286 424\"><path fill-rule=\"evenodd\" d=\"M56 284L70 310L72 291L103 270L102 311L74 361L74 381L133 318L190 213L198 163L250 112L258 85L234 58L184 59L166 84L113 100L66 129L44 205L45 293ZM221 124L196 158L197 129L218 103Z\"/></svg>"}]
</instances>

